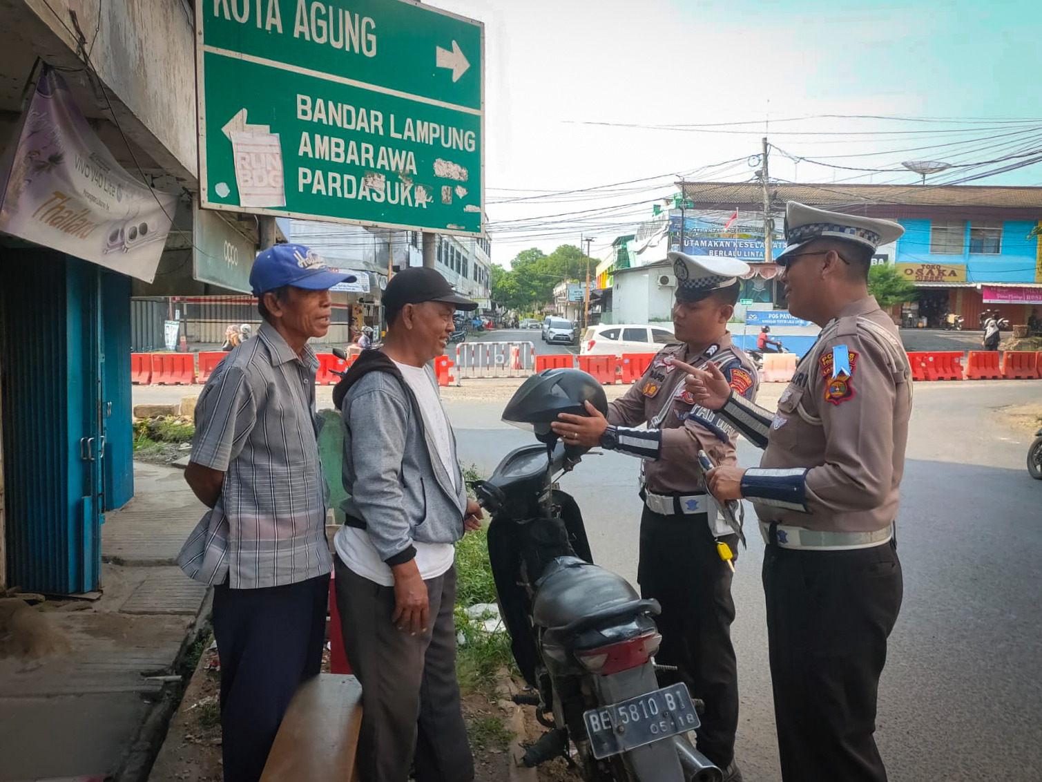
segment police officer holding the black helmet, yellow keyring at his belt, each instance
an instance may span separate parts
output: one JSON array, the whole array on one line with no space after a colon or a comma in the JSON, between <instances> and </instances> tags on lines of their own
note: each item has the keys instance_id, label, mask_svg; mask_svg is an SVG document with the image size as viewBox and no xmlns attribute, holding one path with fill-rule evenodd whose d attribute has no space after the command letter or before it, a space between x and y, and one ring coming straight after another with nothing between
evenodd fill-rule
<instances>
[{"instance_id":1,"label":"police officer holding the black helmet, yellow keyring at his belt","mask_svg":"<svg viewBox=\"0 0 1042 782\"><path fill-rule=\"evenodd\" d=\"M733 342L727 321L735 312L748 264L729 258L670 252L676 276L673 329L666 345L605 419L562 415L553 424L568 443L627 454L642 462L640 565L644 597L658 600L662 646L655 660L676 666L661 684L688 685L705 702L698 749L724 769L726 782L742 779L735 762L738 671L730 642L735 603L730 596L738 536L705 494L698 451L714 464L737 463L737 433L719 415L695 404L685 387L685 367L712 364L735 393L755 397L759 378L749 358ZM684 366L674 366L674 362ZM647 424L646 429L637 429Z\"/></svg>"}]
</instances>

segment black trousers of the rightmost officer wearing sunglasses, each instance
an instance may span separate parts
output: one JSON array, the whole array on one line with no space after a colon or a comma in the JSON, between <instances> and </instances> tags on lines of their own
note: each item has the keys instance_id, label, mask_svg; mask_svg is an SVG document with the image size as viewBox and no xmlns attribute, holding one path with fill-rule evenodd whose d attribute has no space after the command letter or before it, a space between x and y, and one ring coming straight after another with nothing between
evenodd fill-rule
<instances>
[{"instance_id":1,"label":"black trousers of the rightmost officer wearing sunglasses","mask_svg":"<svg viewBox=\"0 0 1042 782\"><path fill-rule=\"evenodd\" d=\"M887 637L901 606L895 545L768 545L764 591L783 780L886 782L872 734Z\"/></svg>"}]
</instances>

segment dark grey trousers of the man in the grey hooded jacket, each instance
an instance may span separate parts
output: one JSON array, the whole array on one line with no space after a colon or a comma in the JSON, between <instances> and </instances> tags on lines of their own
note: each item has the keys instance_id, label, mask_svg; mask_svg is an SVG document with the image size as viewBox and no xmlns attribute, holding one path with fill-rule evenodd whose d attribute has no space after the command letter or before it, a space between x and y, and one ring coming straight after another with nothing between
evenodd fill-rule
<instances>
[{"instance_id":1,"label":"dark grey trousers of the man in the grey hooded jacket","mask_svg":"<svg viewBox=\"0 0 1042 782\"><path fill-rule=\"evenodd\" d=\"M429 627L413 636L391 621L394 587L336 563L344 650L362 683L358 778L406 782L415 766L417 782L470 782L474 758L455 673L455 566L424 582Z\"/></svg>"}]
</instances>

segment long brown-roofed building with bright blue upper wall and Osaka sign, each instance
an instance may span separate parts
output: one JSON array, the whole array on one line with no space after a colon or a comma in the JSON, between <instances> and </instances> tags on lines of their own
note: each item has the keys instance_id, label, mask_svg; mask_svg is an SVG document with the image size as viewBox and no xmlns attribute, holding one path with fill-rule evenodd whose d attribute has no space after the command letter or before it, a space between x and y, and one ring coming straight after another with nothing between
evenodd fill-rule
<instances>
[{"instance_id":1,"label":"long brown-roofed building with bright blue upper wall and Osaka sign","mask_svg":"<svg viewBox=\"0 0 1042 782\"><path fill-rule=\"evenodd\" d=\"M688 182L684 190L695 219L717 226L717 241L726 239L721 228L736 212L742 224L763 224L756 184ZM1042 188L772 184L770 191L771 217L779 227L789 200L904 226L904 235L879 247L875 258L916 287L916 300L893 313L902 325L940 327L953 313L964 317L965 327L977 328L986 310L1023 324L1033 308L1042 311ZM711 239L702 237L703 248L727 249L726 242L709 248ZM759 247L762 253L762 229ZM776 288L771 301L784 309Z\"/></svg>"}]
</instances>

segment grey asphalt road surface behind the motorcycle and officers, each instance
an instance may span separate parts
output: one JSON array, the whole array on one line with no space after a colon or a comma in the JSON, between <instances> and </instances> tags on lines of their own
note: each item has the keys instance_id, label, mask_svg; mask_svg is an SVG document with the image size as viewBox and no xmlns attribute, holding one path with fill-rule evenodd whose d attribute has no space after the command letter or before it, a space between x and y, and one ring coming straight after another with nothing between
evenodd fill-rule
<instances>
[{"instance_id":1,"label":"grey asphalt road surface behind the motorcycle and officers","mask_svg":"<svg viewBox=\"0 0 1042 782\"><path fill-rule=\"evenodd\" d=\"M898 782L1042 780L1042 482L1024 467L1033 432L1007 429L997 412L1042 399L1042 381L920 383L915 391L897 535L904 603L880 684L879 748ZM461 457L482 472L531 442L499 422L501 401L446 407ZM741 443L743 465L758 458ZM632 582L637 472L636 460L609 454L561 482L579 500L597 561ZM738 758L747 782L774 782L764 546L749 532L734 586Z\"/></svg>"}]
</instances>

